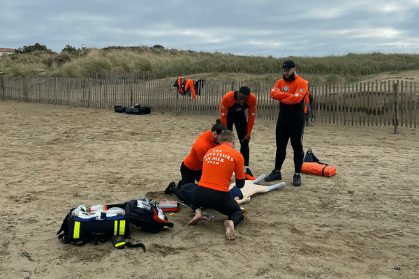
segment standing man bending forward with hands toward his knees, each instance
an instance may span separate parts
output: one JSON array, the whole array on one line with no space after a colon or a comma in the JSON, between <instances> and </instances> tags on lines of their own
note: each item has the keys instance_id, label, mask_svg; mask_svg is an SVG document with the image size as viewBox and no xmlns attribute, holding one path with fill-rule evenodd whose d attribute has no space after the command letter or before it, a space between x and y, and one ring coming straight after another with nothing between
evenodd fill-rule
<instances>
[{"instance_id":1,"label":"standing man bending forward with hands toward his knees","mask_svg":"<svg viewBox=\"0 0 419 279\"><path fill-rule=\"evenodd\" d=\"M246 120L245 110L249 109ZM220 104L220 118L227 129L233 131L233 124L237 130L240 141L240 153L244 158L244 173L253 178L249 169L249 141L251 129L255 123L256 96L250 92L249 87L242 86L238 91L230 91L224 95Z\"/></svg>"}]
</instances>

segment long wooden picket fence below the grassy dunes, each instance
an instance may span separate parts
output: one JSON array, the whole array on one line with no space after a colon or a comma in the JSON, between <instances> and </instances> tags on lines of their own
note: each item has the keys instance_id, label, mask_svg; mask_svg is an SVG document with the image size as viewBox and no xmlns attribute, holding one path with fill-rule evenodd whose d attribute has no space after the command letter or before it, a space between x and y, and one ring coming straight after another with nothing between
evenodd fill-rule
<instances>
[{"instance_id":1,"label":"long wooden picket fence below the grassy dunes","mask_svg":"<svg viewBox=\"0 0 419 279\"><path fill-rule=\"evenodd\" d=\"M224 94L249 86L258 100L256 119L276 120L279 102L270 98L274 84L207 81L196 99L180 95L176 78L143 80L134 77L10 77L1 76L0 100L49 103L113 110L115 105L140 104L152 112L219 115ZM309 122L346 126L418 127L416 82L388 80L355 84L310 84L314 97Z\"/></svg>"}]
</instances>

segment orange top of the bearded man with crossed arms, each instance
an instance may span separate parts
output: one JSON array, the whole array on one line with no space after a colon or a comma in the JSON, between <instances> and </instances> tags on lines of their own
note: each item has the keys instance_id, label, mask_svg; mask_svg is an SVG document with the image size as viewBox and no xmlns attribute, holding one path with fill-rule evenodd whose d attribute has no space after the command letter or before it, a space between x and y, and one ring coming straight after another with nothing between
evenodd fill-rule
<instances>
[{"instance_id":1,"label":"orange top of the bearded man with crossed arms","mask_svg":"<svg viewBox=\"0 0 419 279\"><path fill-rule=\"evenodd\" d=\"M279 100L281 103L294 105L301 102L308 90L307 82L295 75L293 82L286 82L284 79L278 80L270 95L272 99Z\"/></svg>"}]
</instances>

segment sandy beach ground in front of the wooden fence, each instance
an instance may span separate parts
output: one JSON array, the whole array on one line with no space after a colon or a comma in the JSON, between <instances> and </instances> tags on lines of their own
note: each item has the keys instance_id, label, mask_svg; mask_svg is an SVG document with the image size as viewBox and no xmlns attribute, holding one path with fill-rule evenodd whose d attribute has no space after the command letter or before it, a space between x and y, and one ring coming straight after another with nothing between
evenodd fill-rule
<instances>
[{"instance_id":1,"label":"sandy beach ground in front of the wooden fence","mask_svg":"<svg viewBox=\"0 0 419 279\"><path fill-rule=\"evenodd\" d=\"M186 206L157 234L131 227L146 252L59 241L80 204L177 200L164 189L215 120L0 101L1 278L419 278L419 132L392 126L310 123L304 151L337 174L302 174L302 186L292 186L288 144L286 187L243 205L235 241L224 237L226 216L210 209L215 218L186 225ZM274 167L275 124L256 119L256 176Z\"/></svg>"}]
</instances>

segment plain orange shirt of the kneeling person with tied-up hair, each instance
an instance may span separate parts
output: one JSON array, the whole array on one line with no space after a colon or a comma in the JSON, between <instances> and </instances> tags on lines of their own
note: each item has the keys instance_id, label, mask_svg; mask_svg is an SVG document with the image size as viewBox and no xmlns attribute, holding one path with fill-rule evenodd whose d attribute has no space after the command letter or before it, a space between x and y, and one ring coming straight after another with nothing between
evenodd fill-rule
<instances>
[{"instance_id":1,"label":"plain orange shirt of the kneeling person with tied-up hair","mask_svg":"<svg viewBox=\"0 0 419 279\"><path fill-rule=\"evenodd\" d=\"M219 144L214 142L212 131L207 130L207 132L201 134L193 143L191 152L184 159L184 165L192 170L202 169L205 153L215 146L219 146Z\"/></svg>"}]
</instances>

